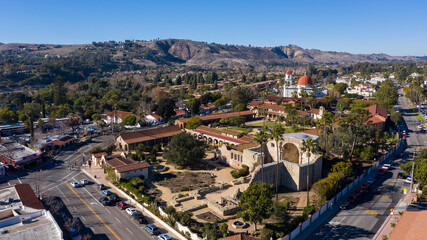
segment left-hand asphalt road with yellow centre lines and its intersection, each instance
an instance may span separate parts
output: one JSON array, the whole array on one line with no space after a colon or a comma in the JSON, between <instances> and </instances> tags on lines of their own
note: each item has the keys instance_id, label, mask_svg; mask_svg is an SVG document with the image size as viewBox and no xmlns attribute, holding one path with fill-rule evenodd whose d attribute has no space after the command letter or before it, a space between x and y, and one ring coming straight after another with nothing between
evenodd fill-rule
<instances>
[{"instance_id":1,"label":"left-hand asphalt road with yellow centre lines and its intersection","mask_svg":"<svg viewBox=\"0 0 427 240\"><path fill-rule=\"evenodd\" d=\"M81 179L90 179L77 167L70 169L76 163L82 162L85 154L89 157L88 151L94 146L103 146L109 142L111 136L96 138L91 143L77 149L65 151L56 159L58 166L47 166L42 171L22 173L19 177L10 179L1 186L16 183L29 183L33 189L39 186L40 192L52 196L60 197L68 210L74 217L79 217L83 224L92 230L95 239L155 239L145 230L143 224L136 221L123 210L115 206L103 206L98 202L102 193L97 189L96 184L89 184L85 187L73 188L69 183L73 180L80 182ZM154 223L152 219L149 223ZM166 233L160 229L160 232ZM173 236L169 233L170 236Z\"/></svg>"}]
</instances>

